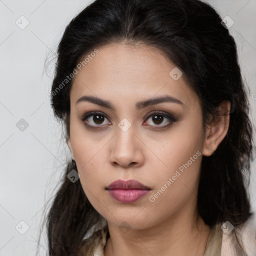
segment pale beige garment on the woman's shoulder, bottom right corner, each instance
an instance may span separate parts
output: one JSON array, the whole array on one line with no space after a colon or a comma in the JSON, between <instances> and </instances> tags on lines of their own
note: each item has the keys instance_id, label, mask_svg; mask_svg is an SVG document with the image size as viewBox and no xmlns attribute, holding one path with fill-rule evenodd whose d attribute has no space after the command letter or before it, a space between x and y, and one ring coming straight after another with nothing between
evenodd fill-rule
<instances>
[{"instance_id":1,"label":"pale beige garment on the woman's shoulder, bottom right corner","mask_svg":"<svg viewBox=\"0 0 256 256\"><path fill-rule=\"evenodd\" d=\"M222 226L225 223L222 224ZM245 223L240 226L231 227L234 228L237 237L240 238L241 245L243 246L245 252L248 256L256 255L256 227L255 227L255 218L248 219ZM223 229L222 229L223 230ZM230 230L229 230L230 231ZM239 256L235 251L235 243L234 243L234 234L233 231L222 232L222 244L221 244L221 256Z\"/></svg>"}]
</instances>

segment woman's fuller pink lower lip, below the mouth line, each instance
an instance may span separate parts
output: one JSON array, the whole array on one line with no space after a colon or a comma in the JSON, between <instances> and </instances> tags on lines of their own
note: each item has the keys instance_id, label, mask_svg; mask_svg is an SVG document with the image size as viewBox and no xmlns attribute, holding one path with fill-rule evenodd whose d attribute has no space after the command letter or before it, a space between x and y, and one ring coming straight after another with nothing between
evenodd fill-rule
<instances>
[{"instance_id":1,"label":"woman's fuller pink lower lip, below the mouth line","mask_svg":"<svg viewBox=\"0 0 256 256\"><path fill-rule=\"evenodd\" d=\"M109 194L119 202L134 202L146 195L147 189L109 189Z\"/></svg>"}]
</instances>

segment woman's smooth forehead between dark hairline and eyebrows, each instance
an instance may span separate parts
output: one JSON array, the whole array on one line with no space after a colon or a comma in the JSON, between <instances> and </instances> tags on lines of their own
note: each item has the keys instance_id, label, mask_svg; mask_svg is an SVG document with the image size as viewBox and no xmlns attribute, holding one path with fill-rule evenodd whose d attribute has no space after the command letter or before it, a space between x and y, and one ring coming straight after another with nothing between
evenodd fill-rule
<instances>
[{"instance_id":1,"label":"woman's smooth forehead between dark hairline and eyebrows","mask_svg":"<svg viewBox=\"0 0 256 256\"><path fill-rule=\"evenodd\" d=\"M125 102L167 93L190 105L197 99L182 75L173 79L172 70L179 72L177 67L155 47L112 43L97 50L81 58L87 57L87 62L73 77L71 104L82 95L118 97Z\"/></svg>"}]
</instances>

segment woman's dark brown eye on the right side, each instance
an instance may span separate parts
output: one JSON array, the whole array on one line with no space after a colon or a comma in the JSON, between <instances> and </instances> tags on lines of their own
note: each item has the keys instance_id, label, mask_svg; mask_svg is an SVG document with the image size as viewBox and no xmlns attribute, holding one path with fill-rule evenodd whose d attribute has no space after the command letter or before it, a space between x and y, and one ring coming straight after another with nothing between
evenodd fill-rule
<instances>
[{"instance_id":1,"label":"woman's dark brown eye on the right side","mask_svg":"<svg viewBox=\"0 0 256 256\"><path fill-rule=\"evenodd\" d=\"M151 121L149 122L149 126L160 126L160 127L167 127L172 122L176 121L176 119L173 116L162 111L157 111L152 114L149 114L146 117L146 119L149 119ZM148 123L148 121L146 123Z\"/></svg>"}]
</instances>

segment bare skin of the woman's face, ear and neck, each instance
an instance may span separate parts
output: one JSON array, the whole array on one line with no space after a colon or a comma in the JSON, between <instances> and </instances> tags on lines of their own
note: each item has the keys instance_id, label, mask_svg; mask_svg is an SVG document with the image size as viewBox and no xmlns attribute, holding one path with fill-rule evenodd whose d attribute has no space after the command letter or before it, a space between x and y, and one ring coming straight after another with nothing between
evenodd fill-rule
<instances>
[{"instance_id":1,"label":"bare skin of the woman's face, ear and neck","mask_svg":"<svg viewBox=\"0 0 256 256\"><path fill-rule=\"evenodd\" d=\"M98 50L73 78L68 145L84 193L108 223L104 256L203 255L210 228L196 207L201 158L211 155L226 135L229 115L212 118L203 136L197 95L183 76L174 80L169 75L175 65L158 49L112 43ZM108 100L115 110L88 101L75 104L83 95ZM137 101L162 95L183 105L162 102L135 108ZM224 102L219 108L229 107ZM160 110L176 121L145 118ZM96 123L92 117L82 121L90 111L106 117ZM118 126L123 118L131 124L126 131ZM84 122L101 129L89 129ZM197 159L155 201L149 201L197 151ZM121 203L105 190L116 179L135 179L152 190L135 202ZM123 221L128 225L125 232L119 228Z\"/></svg>"}]
</instances>

